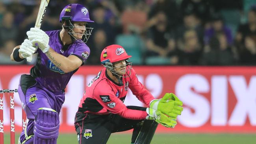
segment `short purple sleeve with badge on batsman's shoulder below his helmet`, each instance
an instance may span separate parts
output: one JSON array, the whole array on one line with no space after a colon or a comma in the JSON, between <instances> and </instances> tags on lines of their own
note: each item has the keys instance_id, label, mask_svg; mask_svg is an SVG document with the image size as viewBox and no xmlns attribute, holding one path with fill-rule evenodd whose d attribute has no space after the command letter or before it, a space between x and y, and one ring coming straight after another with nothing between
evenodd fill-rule
<instances>
[{"instance_id":1,"label":"short purple sleeve with badge on batsman's shoulder below his helmet","mask_svg":"<svg viewBox=\"0 0 256 144\"><path fill-rule=\"evenodd\" d=\"M76 55L84 64L85 60L89 57L90 52L90 48L86 44L80 43L76 45L76 49L72 55Z\"/></svg>"}]
</instances>

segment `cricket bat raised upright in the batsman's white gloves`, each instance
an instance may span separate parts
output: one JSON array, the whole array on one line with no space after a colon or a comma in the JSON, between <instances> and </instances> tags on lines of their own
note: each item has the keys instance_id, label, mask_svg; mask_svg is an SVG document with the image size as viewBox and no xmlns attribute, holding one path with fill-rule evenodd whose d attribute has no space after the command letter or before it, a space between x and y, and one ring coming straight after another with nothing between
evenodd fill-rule
<instances>
[{"instance_id":1,"label":"cricket bat raised upright in the batsman's white gloves","mask_svg":"<svg viewBox=\"0 0 256 144\"><path fill-rule=\"evenodd\" d=\"M43 18L45 17L45 12L47 9L47 6L49 4L50 0L41 0L41 4L39 6L39 10L37 13L37 20L35 21L35 28L41 28L41 24L43 22ZM27 57L27 61L31 62L32 61L32 55Z\"/></svg>"}]
</instances>

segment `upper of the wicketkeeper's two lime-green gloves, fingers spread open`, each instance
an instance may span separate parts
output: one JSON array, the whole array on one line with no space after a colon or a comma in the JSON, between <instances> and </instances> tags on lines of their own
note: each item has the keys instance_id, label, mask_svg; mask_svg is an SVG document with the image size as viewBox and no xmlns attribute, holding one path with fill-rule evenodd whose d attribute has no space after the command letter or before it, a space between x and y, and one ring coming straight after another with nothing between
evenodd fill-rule
<instances>
[{"instance_id":1,"label":"upper of the wicketkeeper's two lime-green gloves, fingers spread open","mask_svg":"<svg viewBox=\"0 0 256 144\"><path fill-rule=\"evenodd\" d=\"M183 111L183 103L173 93L166 93L163 98L152 100L150 107L176 119Z\"/></svg>"}]
</instances>

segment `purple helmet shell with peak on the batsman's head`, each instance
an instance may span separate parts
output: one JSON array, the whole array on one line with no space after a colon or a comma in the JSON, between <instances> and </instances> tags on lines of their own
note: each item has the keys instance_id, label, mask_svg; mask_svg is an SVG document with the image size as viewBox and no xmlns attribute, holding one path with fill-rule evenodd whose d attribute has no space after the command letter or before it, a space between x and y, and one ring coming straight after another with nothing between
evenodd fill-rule
<instances>
[{"instance_id":1,"label":"purple helmet shell with peak on the batsman's head","mask_svg":"<svg viewBox=\"0 0 256 144\"><path fill-rule=\"evenodd\" d=\"M81 4L69 4L64 7L59 16L59 22L71 18L75 22L94 22L90 20L89 11Z\"/></svg>"}]
</instances>

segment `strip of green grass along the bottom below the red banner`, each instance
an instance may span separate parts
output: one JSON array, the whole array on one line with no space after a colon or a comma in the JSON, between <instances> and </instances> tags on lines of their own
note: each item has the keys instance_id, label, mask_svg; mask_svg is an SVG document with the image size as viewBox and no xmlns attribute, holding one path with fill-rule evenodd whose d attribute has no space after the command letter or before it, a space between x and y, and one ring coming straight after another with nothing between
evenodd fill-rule
<instances>
[{"instance_id":1,"label":"strip of green grass along the bottom below the red banner","mask_svg":"<svg viewBox=\"0 0 256 144\"><path fill-rule=\"evenodd\" d=\"M131 134L112 134L107 144L130 144ZM19 135L16 135L16 144ZM4 143L10 143L5 134ZM74 133L60 134L58 144L77 144ZM156 134L151 144L255 144L256 134Z\"/></svg>"}]
</instances>

